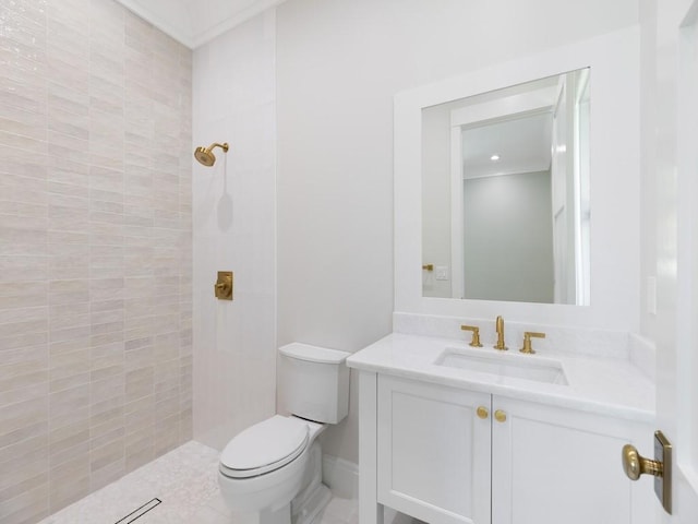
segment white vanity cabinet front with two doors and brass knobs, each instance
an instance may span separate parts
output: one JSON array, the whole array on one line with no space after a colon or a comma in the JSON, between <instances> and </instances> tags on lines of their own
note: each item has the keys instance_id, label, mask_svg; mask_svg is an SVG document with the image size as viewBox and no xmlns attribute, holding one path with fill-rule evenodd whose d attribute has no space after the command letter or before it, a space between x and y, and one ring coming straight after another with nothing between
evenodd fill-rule
<instances>
[{"instance_id":1,"label":"white vanity cabinet front with two doors and brass knobs","mask_svg":"<svg viewBox=\"0 0 698 524\"><path fill-rule=\"evenodd\" d=\"M444 524L655 522L651 487L621 467L623 444L650 445L645 424L362 373L362 388L371 382L375 433L362 429L361 475L375 471L374 504ZM361 522L376 515L366 503Z\"/></svg>"}]
</instances>

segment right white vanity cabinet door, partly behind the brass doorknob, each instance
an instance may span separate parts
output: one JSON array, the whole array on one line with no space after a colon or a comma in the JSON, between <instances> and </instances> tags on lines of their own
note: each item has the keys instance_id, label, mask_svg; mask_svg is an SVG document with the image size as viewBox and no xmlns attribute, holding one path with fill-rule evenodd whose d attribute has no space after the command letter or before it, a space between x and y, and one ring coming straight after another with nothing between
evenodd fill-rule
<instances>
[{"instance_id":1,"label":"right white vanity cabinet door, partly behind the brass doorknob","mask_svg":"<svg viewBox=\"0 0 698 524\"><path fill-rule=\"evenodd\" d=\"M655 522L651 484L621 467L623 444L651 434L643 425L496 395L492 408L506 415L492 420L492 524Z\"/></svg>"}]
</instances>

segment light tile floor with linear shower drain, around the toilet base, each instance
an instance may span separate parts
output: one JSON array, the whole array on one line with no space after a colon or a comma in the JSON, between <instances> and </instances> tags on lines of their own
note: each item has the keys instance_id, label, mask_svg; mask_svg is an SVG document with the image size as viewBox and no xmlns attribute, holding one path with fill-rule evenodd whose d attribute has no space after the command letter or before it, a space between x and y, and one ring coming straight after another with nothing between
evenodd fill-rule
<instances>
[{"instance_id":1,"label":"light tile floor with linear shower drain, around the toilet base","mask_svg":"<svg viewBox=\"0 0 698 524\"><path fill-rule=\"evenodd\" d=\"M242 524L220 497L217 467L216 450L188 442L39 524L115 524L155 498L163 502L134 524ZM358 524L358 510L356 500L333 497L318 524ZM386 523L410 522L386 512Z\"/></svg>"}]
</instances>

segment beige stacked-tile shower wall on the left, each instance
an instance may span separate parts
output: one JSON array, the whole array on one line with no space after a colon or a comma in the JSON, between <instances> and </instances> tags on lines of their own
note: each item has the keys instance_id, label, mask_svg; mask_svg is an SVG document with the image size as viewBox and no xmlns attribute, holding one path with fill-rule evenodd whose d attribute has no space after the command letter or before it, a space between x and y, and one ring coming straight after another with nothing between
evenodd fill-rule
<instances>
[{"instance_id":1,"label":"beige stacked-tile shower wall on the left","mask_svg":"<svg viewBox=\"0 0 698 524\"><path fill-rule=\"evenodd\" d=\"M0 3L0 522L192 434L191 51L112 0Z\"/></svg>"}]
</instances>

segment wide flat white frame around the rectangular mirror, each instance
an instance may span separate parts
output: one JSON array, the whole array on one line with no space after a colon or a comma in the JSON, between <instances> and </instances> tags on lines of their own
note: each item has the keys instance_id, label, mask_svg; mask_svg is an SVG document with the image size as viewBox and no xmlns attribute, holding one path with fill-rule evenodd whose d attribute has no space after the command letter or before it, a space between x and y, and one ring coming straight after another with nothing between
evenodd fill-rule
<instances>
[{"instance_id":1,"label":"wide flat white frame around the rectangular mirror","mask_svg":"<svg viewBox=\"0 0 698 524\"><path fill-rule=\"evenodd\" d=\"M639 28L630 27L395 95L395 311L637 332L640 275ZM422 297L425 107L591 68L591 305ZM516 253L512 253L513 257Z\"/></svg>"}]
</instances>

